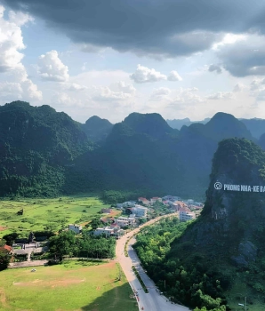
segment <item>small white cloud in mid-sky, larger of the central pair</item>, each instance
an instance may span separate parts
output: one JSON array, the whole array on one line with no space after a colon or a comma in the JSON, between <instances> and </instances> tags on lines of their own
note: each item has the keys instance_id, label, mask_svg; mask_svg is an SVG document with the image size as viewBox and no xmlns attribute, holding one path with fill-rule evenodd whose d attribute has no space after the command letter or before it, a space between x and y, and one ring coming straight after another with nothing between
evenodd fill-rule
<instances>
[{"instance_id":1,"label":"small white cloud in mid-sky, larger of the central pair","mask_svg":"<svg viewBox=\"0 0 265 311\"><path fill-rule=\"evenodd\" d=\"M136 84L144 84L166 80L166 76L161 74L159 71L143 67L140 64L137 66L136 71L130 76L130 78Z\"/></svg>"}]
</instances>

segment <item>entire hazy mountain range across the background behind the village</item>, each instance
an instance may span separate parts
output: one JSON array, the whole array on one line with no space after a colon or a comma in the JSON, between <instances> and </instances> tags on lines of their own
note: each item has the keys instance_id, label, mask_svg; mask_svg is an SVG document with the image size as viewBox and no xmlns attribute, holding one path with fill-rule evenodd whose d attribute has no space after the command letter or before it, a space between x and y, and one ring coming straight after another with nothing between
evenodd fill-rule
<instances>
[{"instance_id":1,"label":"entire hazy mountain range across the background behind the village","mask_svg":"<svg viewBox=\"0 0 265 311\"><path fill-rule=\"evenodd\" d=\"M158 114L132 113L114 125L92 116L79 124L49 106L12 102L0 107L0 195L138 190L204 200L220 140L265 147L253 127L225 113L180 131Z\"/></svg>"}]
</instances>

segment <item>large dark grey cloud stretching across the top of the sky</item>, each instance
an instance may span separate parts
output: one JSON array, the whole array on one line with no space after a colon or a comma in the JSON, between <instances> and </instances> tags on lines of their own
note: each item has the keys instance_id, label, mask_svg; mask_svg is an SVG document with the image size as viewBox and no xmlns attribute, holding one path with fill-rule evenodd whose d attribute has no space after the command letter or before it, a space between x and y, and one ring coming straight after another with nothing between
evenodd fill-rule
<instances>
[{"instance_id":1,"label":"large dark grey cloud stretching across the top of the sky","mask_svg":"<svg viewBox=\"0 0 265 311\"><path fill-rule=\"evenodd\" d=\"M84 44L88 52L111 47L119 52L173 57L211 48L221 41L220 33L242 33L250 28L265 31L265 4L260 0L147 0L144 4L72 0L63 11L54 0L2 1L45 20L50 28Z\"/></svg>"}]
</instances>

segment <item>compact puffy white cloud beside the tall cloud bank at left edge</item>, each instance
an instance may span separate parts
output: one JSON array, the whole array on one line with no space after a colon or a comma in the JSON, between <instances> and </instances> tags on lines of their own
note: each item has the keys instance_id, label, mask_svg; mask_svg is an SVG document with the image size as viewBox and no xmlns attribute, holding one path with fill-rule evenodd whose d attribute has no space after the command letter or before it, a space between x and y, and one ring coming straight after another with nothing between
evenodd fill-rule
<instances>
[{"instance_id":1,"label":"compact puffy white cloud beside the tall cloud bank at left edge","mask_svg":"<svg viewBox=\"0 0 265 311\"><path fill-rule=\"evenodd\" d=\"M45 81L64 82L68 80L68 67L62 63L57 51L52 50L41 55L37 68L38 74Z\"/></svg>"}]
</instances>

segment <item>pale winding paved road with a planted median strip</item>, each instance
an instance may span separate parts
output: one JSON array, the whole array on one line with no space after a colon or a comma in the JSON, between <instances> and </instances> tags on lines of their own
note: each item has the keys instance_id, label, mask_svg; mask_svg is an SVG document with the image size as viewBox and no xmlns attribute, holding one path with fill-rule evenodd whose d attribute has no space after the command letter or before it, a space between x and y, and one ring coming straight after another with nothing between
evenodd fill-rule
<instances>
[{"instance_id":1,"label":"pale winding paved road with a planted median strip","mask_svg":"<svg viewBox=\"0 0 265 311\"><path fill-rule=\"evenodd\" d=\"M168 217L173 216L168 215ZM163 217L161 217L163 218ZM159 219L161 219L159 218ZM148 223L141 227L149 226L150 224L156 222L158 219L150 220ZM136 252L132 249L132 244L135 243L135 239L132 238L128 243L128 254L129 257L124 255L124 244L128 240L128 236L135 235L139 232L141 227L134 229L127 235L121 237L116 243L116 258L124 270L124 275L126 275L128 282L132 287L132 291L138 292L138 305L140 310L146 311L189 311L188 307L182 307L180 305L172 304L167 301L165 296L160 295L156 288L155 283L149 278L148 275L141 268L140 259L137 257ZM142 281L149 288L149 293L145 293L141 284L139 283L137 277L132 272L132 265L137 268L139 274L141 275Z\"/></svg>"}]
</instances>

